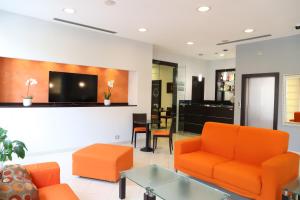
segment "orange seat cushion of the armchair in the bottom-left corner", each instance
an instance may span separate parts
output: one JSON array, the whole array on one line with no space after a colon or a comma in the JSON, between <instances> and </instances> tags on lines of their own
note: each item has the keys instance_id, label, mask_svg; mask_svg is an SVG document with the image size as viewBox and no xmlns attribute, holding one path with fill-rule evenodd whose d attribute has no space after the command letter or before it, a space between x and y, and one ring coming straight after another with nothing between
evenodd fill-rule
<instances>
[{"instance_id":1,"label":"orange seat cushion of the armchair in the bottom-left corner","mask_svg":"<svg viewBox=\"0 0 300 200\"><path fill-rule=\"evenodd\" d=\"M57 184L39 189L40 200L79 200L67 184Z\"/></svg>"}]
</instances>

